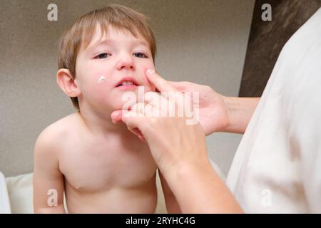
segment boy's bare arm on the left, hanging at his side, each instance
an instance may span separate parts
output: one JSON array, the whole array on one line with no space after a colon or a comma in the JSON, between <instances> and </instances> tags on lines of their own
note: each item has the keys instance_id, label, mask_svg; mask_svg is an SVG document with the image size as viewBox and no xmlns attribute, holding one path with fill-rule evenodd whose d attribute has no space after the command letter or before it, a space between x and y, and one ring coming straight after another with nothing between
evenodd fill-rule
<instances>
[{"instance_id":1,"label":"boy's bare arm on the left, hanging at his side","mask_svg":"<svg viewBox=\"0 0 321 228\"><path fill-rule=\"evenodd\" d=\"M58 147L49 131L39 135L34 148L34 212L65 213L63 175L58 168Z\"/></svg>"}]
</instances>

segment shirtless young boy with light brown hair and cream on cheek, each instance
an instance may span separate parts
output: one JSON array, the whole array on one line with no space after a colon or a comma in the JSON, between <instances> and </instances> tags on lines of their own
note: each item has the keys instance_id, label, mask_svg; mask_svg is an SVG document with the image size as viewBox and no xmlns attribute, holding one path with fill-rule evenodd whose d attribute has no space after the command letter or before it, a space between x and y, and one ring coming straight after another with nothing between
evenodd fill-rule
<instances>
[{"instance_id":1,"label":"shirtless young boy with light brown hair and cream on cheek","mask_svg":"<svg viewBox=\"0 0 321 228\"><path fill-rule=\"evenodd\" d=\"M34 151L34 211L153 213L156 163L126 125L113 124L128 91L153 91L156 43L146 17L124 6L91 11L61 37L57 83L76 113L49 125ZM179 212L162 179L168 212Z\"/></svg>"}]
</instances>

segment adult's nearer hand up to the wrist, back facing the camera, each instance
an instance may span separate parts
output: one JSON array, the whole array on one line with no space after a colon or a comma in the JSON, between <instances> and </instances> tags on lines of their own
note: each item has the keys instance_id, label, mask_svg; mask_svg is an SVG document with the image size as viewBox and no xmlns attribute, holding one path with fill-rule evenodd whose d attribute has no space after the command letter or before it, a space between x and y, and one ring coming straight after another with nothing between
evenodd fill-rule
<instances>
[{"instance_id":1,"label":"adult's nearer hand up to the wrist, back facing the camera","mask_svg":"<svg viewBox=\"0 0 321 228\"><path fill-rule=\"evenodd\" d=\"M184 97L183 93L178 92L157 73L146 75L159 91L167 92L168 97L148 92L145 94L145 103L136 103L130 111L121 112L121 120L129 130L141 139L141 136L146 139L163 175L180 164L200 167L204 162L208 164L205 132L200 123L188 124L189 119L185 115L178 115L178 110L184 110L184 105L190 104L189 98ZM174 116L167 115L170 107L175 108ZM111 115L115 120L115 115L120 114L116 111Z\"/></svg>"}]
</instances>

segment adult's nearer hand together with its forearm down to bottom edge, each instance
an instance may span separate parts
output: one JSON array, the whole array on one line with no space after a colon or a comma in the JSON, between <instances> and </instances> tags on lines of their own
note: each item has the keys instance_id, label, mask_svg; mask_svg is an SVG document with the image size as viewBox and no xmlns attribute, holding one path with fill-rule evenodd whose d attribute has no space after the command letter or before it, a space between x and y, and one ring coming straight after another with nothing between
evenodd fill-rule
<instances>
[{"instance_id":1,"label":"adult's nearer hand together with its forearm down to bottom edge","mask_svg":"<svg viewBox=\"0 0 321 228\"><path fill-rule=\"evenodd\" d=\"M161 92L178 91L155 72L147 76ZM188 86L185 86L185 89L187 88ZM242 212L228 187L210 167L205 132L200 123L188 125L184 115L160 116L167 113L167 110L164 110L166 105L161 104L169 103L167 107L179 110L189 101L184 102L182 93L176 93L178 102L174 103L170 95L169 98L156 92L149 92L146 95L148 95L145 98L146 102L137 103L130 111L125 111L121 115L121 120L133 133L137 134L138 129L148 142L151 154L178 200L181 211L183 213ZM113 115L119 115L119 112L111 115L112 119L115 119Z\"/></svg>"}]
</instances>

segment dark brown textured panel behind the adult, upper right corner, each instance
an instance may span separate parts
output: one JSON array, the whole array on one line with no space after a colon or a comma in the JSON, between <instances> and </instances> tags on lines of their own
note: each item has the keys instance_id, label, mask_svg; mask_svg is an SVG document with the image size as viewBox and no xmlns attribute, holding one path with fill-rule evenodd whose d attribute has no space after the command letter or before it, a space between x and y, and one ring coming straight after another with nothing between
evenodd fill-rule
<instances>
[{"instance_id":1,"label":"dark brown textured panel behind the adult, upper right corner","mask_svg":"<svg viewBox=\"0 0 321 228\"><path fill-rule=\"evenodd\" d=\"M272 21L263 21L263 4L272 6ZM321 7L321 0L256 0L240 97L262 95L287 40Z\"/></svg>"}]
</instances>

